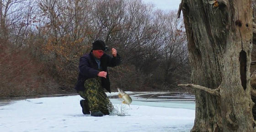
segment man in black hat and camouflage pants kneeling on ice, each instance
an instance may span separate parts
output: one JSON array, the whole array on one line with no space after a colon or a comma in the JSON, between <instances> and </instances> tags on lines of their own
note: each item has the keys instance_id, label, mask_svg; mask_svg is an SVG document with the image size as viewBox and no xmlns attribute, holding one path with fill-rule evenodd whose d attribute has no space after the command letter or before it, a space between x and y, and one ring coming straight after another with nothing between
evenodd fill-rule
<instances>
[{"instance_id":1,"label":"man in black hat and camouflage pants kneeling on ice","mask_svg":"<svg viewBox=\"0 0 256 132\"><path fill-rule=\"evenodd\" d=\"M84 54L79 62L79 75L75 89L84 99L80 100L82 112L91 116L109 115L113 105L107 98L104 88L111 92L107 67L121 63L117 50L112 48L112 56L104 53L106 45L101 40L92 43L90 53Z\"/></svg>"}]
</instances>

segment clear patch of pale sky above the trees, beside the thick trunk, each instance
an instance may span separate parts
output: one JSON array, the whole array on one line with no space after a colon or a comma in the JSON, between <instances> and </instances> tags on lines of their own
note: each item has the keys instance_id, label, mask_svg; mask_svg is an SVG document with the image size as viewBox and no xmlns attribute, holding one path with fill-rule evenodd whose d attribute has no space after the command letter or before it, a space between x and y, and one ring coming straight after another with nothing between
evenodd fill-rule
<instances>
[{"instance_id":1,"label":"clear patch of pale sky above the trees, beside the thick trunk","mask_svg":"<svg viewBox=\"0 0 256 132\"><path fill-rule=\"evenodd\" d=\"M181 0L143 0L145 3L152 3L156 8L164 11L178 10Z\"/></svg>"}]
</instances>

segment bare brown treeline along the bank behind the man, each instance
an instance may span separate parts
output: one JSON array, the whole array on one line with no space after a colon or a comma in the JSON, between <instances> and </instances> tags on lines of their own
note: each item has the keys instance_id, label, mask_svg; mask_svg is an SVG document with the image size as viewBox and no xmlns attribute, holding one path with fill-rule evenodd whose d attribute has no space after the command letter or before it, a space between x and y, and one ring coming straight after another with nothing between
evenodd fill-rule
<instances>
[{"instance_id":1,"label":"bare brown treeline along the bank behind the man","mask_svg":"<svg viewBox=\"0 0 256 132\"><path fill-rule=\"evenodd\" d=\"M74 92L79 58L97 39L123 58L109 69L113 91L189 83L176 12L141 0L0 0L0 96Z\"/></svg>"}]
</instances>

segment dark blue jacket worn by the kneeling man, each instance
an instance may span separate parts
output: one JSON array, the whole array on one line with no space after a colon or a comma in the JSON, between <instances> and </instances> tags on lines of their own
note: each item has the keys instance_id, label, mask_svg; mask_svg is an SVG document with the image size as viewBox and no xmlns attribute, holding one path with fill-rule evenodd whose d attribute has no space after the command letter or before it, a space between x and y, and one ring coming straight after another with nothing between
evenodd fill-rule
<instances>
[{"instance_id":1,"label":"dark blue jacket worn by the kneeling man","mask_svg":"<svg viewBox=\"0 0 256 132\"><path fill-rule=\"evenodd\" d=\"M104 53L101 58L101 70L98 69L98 65L95 61L95 58L93 57L92 51L90 53L84 54L79 61L79 74L77 83L75 85L75 89L77 91L84 91L85 90L85 80L90 78L95 78L98 76L98 73L100 71L107 72L107 67L114 67L121 63L121 58L117 54L117 57L111 57ZM108 77L107 72L107 78L101 77L101 85L103 88L105 88L108 92L111 92L110 90L110 81Z\"/></svg>"}]
</instances>

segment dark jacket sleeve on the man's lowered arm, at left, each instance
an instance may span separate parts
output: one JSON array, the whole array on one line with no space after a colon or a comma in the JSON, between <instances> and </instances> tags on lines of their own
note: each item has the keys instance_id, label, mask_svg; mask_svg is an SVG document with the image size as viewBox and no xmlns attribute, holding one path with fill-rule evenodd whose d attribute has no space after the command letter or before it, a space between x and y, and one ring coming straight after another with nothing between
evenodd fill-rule
<instances>
[{"instance_id":1,"label":"dark jacket sleeve on the man's lowered arm, at left","mask_svg":"<svg viewBox=\"0 0 256 132\"><path fill-rule=\"evenodd\" d=\"M100 71L93 69L89 65L89 60L85 57L81 57L79 61L79 71L82 75L88 77L88 78L93 78L98 75Z\"/></svg>"}]
</instances>

